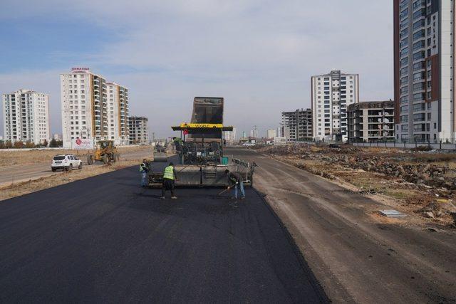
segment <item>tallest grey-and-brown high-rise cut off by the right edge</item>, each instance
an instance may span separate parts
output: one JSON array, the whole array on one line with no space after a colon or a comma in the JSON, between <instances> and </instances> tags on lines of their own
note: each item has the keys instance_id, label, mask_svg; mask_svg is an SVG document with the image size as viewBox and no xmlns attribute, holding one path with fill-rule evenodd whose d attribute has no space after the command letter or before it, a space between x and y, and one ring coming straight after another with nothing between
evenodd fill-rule
<instances>
[{"instance_id":1,"label":"tallest grey-and-brown high-rise cut off by the right edge","mask_svg":"<svg viewBox=\"0 0 456 304\"><path fill-rule=\"evenodd\" d=\"M454 0L394 0L397 140L455 140L454 46Z\"/></svg>"}]
</instances>

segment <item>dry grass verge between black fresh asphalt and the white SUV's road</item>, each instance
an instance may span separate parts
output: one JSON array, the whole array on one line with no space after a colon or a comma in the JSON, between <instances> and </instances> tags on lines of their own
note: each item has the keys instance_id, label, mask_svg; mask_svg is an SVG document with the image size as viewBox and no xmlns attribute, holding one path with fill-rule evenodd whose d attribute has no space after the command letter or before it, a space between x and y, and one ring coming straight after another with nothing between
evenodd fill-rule
<instances>
[{"instance_id":1,"label":"dry grass verge between black fresh asphalt and the white SUV's road","mask_svg":"<svg viewBox=\"0 0 456 304\"><path fill-rule=\"evenodd\" d=\"M86 179L95 175L112 172L125 167L138 164L138 160L120 161L115 164L103 165L100 167L87 167L83 170L73 170L71 172L58 172L49 177L41 177L28 182L21 182L7 187L0 188L0 201L11 199L12 197L37 192L43 189L56 187L61 184L68 184L79 179Z\"/></svg>"}]
</instances>

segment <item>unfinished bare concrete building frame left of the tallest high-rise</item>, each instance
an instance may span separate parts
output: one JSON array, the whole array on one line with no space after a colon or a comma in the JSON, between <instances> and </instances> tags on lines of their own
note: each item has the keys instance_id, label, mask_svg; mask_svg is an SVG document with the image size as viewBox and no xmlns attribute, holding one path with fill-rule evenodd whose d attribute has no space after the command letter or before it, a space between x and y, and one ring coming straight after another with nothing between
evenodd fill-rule
<instances>
[{"instance_id":1,"label":"unfinished bare concrete building frame left of the tallest high-rise","mask_svg":"<svg viewBox=\"0 0 456 304\"><path fill-rule=\"evenodd\" d=\"M348 105L348 142L395 140L394 107L392 100Z\"/></svg>"}]
</instances>

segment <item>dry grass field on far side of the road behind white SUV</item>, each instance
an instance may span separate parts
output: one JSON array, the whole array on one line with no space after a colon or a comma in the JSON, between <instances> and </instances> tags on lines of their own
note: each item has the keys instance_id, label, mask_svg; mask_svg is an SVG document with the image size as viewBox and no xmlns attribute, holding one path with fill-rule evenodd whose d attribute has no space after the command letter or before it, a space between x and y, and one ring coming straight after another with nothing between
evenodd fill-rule
<instances>
[{"instance_id":1,"label":"dry grass field on far side of the road behind white SUV","mask_svg":"<svg viewBox=\"0 0 456 304\"><path fill-rule=\"evenodd\" d=\"M126 152L138 152L151 150L151 146L133 146L118 148L120 155ZM8 151L0 150L0 167L11 166L13 164L37 164L40 162L51 162L56 154L75 154L85 160L87 150L31 150L31 151Z\"/></svg>"}]
</instances>

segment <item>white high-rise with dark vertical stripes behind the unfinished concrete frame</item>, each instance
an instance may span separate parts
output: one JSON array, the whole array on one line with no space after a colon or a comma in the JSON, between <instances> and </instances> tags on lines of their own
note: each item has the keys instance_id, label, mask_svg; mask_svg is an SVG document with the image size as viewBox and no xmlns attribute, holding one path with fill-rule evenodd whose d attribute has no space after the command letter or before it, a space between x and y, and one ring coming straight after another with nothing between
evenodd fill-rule
<instances>
[{"instance_id":1,"label":"white high-rise with dark vertical stripes behind the unfinished concrete frame","mask_svg":"<svg viewBox=\"0 0 456 304\"><path fill-rule=\"evenodd\" d=\"M311 77L315 140L347 140L347 107L359 102L358 74L331 73Z\"/></svg>"}]
</instances>

